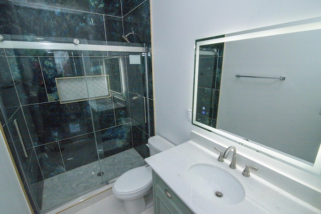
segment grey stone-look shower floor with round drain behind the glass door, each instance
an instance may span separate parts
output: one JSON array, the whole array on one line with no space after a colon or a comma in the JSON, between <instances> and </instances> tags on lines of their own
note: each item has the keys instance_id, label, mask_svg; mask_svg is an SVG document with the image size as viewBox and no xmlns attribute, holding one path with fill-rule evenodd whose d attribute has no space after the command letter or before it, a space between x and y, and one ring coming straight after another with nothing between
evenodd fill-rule
<instances>
[{"instance_id":1,"label":"grey stone-look shower floor with round drain behind the glass door","mask_svg":"<svg viewBox=\"0 0 321 214\"><path fill-rule=\"evenodd\" d=\"M62 174L45 179L42 209L53 208L80 196L120 176L125 171L145 164L144 159L131 148L100 160L103 176L97 176L99 162L95 161Z\"/></svg>"}]
</instances>

